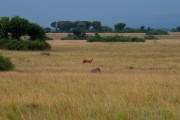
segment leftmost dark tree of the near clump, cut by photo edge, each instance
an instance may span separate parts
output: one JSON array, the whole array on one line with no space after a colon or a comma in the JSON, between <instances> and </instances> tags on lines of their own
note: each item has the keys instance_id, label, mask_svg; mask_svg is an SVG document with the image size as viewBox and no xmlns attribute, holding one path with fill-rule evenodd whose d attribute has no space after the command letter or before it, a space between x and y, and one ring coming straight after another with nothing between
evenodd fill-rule
<instances>
[{"instance_id":1,"label":"leftmost dark tree of the near clump, cut by photo edge","mask_svg":"<svg viewBox=\"0 0 180 120\"><path fill-rule=\"evenodd\" d=\"M0 19L0 34L2 34L3 37L8 38L9 32L10 32L9 17L1 17L1 19Z\"/></svg>"}]
</instances>

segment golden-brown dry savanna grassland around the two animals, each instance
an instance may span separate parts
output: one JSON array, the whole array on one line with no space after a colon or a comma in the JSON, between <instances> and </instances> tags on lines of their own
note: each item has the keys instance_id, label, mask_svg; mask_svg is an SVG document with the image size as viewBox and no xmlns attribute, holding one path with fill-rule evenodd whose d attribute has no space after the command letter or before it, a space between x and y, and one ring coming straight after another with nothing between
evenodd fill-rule
<instances>
[{"instance_id":1,"label":"golden-brown dry savanna grassland around the two animals","mask_svg":"<svg viewBox=\"0 0 180 120\"><path fill-rule=\"evenodd\" d=\"M156 43L54 40L51 51L1 50L16 69L0 72L0 120L179 120L180 40L169 36ZM91 57L94 63L82 64ZM93 67L102 72L90 73Z\"/></svg>"}]
</instances>

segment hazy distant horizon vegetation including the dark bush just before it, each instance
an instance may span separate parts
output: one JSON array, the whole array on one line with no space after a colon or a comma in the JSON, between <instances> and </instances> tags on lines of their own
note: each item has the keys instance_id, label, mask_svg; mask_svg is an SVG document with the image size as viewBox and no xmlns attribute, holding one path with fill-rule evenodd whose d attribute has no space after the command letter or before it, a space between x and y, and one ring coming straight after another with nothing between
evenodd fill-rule
<instances>
[{"instance_id":1,"label":"hazy distant horizon vegetation including the dark bush just before it","mask_svg":"<svg viewBox=\"0 0 180 120\"><path fill-rule=\"evenodd\" d=\"M139 28L128 27L126 23L114 24L114 28L102 25L100 21L54 21L51 28L45 28L46 32L69 33L63 40L87 39L86 33L146 33L147 35L166 35L163 29L140 26ZM177 28L178 29L178 28ZM179 29L180 30L180 29Z\"/></svg>"}]
</instances>

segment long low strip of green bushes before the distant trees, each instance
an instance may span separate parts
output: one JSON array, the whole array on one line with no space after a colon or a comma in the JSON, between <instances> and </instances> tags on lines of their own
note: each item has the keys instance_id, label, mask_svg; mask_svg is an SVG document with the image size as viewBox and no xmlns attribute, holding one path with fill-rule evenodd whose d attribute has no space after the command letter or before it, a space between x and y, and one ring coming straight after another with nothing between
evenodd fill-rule
<instances>
[{"instance_id":1,"label":"long low strip of green bushes before the distant trees","mask_svg":"<svg viewBox=\"0 0 180 120\"><path fill-rule=\"evenodd\" d=\"M88 37L88 42L145 42L143 38L127 37L127 36L105 36L101 37L99 34Z\"/></svg>"}]
</instances>

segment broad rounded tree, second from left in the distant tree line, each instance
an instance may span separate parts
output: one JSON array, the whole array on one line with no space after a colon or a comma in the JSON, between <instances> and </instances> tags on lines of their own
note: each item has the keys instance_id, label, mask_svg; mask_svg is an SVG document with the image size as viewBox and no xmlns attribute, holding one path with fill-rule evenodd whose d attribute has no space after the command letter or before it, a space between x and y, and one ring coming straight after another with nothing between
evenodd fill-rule
<instances>
[{"instance_id":1,"label":"broad rounded tree, second from left in the distant tree line","mask_svg":"<svg viewBox=\"0 0 180 120\"><path fill-rule=\"evenodd\" d=\"M62 32L70 32L70 30L73 28L73 23L71 21L59 21L57 22L57 27Z\"/></svg>"}]
</instances>

